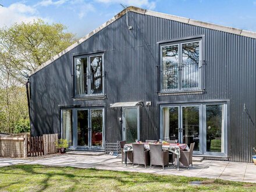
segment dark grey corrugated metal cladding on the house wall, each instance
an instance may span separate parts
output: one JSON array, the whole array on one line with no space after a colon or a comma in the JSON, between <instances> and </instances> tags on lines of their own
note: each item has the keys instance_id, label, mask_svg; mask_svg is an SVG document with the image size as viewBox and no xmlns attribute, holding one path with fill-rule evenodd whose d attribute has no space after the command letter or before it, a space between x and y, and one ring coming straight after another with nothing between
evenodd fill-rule
<instances>
[{"instance_id":1,"label":"dark grey corrugated metal cladding on the house wall","mask_svg":"<svg viewBox=\"0 0 256 192\"><path fill-rule=\"evenodd\" d=\"M31 81L31 121L33 135L59 133L61 106L104 106L105 139L122 139L119 110L114 102L152 101L141 108L140 138L159 138L161 102L226 99L229 101L227 155L232 161L251 161L256 145L256 40L236 34L191 26L158 17L129 13L93 35L51 65L33 74ZM206 93L158 96L159 44L163 40L204 35ZM106 99L73 101L73 54L104 50Z\"/></svg>"}]
</instances>

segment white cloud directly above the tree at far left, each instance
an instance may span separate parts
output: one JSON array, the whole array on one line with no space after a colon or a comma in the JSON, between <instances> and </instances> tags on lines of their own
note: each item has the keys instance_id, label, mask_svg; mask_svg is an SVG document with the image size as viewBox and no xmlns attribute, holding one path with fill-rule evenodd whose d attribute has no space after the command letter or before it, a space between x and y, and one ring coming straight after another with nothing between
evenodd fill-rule
<instances>
[{"instance_id":1,"label":"white cloud directly above the tree at far left","mask_svg":"<svg viewBox=\"0 0 256 192\"><path fill-rule=\"evenodd\" d=\"M9 27L14 23L33 22L38 18L37 13L37 9L33 6L23 3L12 3L8 7L0 7L0 27ZM48 21L48 19L44 20Z\"/></svg>"}]
</instances>

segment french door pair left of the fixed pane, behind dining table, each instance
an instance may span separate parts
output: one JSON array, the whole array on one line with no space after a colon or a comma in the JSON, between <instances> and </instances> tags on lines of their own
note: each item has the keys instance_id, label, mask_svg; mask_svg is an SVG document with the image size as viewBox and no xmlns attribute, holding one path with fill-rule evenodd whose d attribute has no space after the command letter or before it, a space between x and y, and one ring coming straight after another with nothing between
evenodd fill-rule
<instances>
[{"instance_id":1,"label":"french door pair left of the fixed pane, behind dining table","mask_svg":"<svg viewBox=\"0 0 256 192\"><path fill-rule=\"evenodd\" d=\"M195 153L201 153L200 105L162 107L163 140L177 140L190 145L195 143Z\"/></svg>"}]
</instances>

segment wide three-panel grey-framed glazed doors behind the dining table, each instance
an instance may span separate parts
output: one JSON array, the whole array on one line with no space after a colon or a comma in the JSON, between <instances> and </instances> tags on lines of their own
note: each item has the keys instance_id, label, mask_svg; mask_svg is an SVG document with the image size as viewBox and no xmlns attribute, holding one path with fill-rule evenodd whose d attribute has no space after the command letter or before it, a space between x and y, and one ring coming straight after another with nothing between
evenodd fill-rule
<instances>
[{"instance_id":1,"label":"wide three-panel grey-framed glazed doors behind the dining table","mask_svg":"<svg viewBox=\"0 0 256 192\"><path fill-rule=\"evenodd\" d=\"M161 138L195 143L195 154L226 154L226 104L161 106Z\"/></svg>"}]
</instances>

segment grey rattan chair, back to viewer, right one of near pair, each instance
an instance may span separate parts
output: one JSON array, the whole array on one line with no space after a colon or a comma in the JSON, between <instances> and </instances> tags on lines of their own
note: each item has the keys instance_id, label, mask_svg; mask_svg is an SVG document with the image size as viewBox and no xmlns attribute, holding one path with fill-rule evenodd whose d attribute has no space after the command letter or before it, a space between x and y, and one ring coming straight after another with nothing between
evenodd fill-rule
<instances>
[{"instance_id":1,"label":"grey rattan chair, back to viewer, right one of near pair","mask_svg":"<svg viewBox=\"0 0 256 192\"><path fill-rule=\"evenodd\" d=\"M150 144L150 168L152 165L169 166L169 151L163 151L162 144Z\"/></svg>"}]
</instances>

